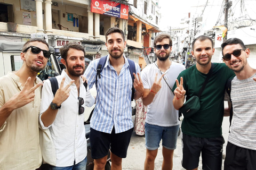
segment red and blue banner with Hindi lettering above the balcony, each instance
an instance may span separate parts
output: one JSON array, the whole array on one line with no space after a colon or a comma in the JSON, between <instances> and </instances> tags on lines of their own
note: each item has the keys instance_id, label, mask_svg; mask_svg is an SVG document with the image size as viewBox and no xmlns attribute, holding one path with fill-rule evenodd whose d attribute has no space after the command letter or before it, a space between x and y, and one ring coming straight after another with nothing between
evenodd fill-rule
<instances>
[{"instance_id":1,"label":"red and blue banner with Hindi lettering above the balcony","mask_svg":"<svg viewBox=\"0 0 256 170\"><path fill-rule=\"evenodd\" d=\"M128 20L129 5L109 0L91 0L91 12Z\"/></svg>"}]
</instances>

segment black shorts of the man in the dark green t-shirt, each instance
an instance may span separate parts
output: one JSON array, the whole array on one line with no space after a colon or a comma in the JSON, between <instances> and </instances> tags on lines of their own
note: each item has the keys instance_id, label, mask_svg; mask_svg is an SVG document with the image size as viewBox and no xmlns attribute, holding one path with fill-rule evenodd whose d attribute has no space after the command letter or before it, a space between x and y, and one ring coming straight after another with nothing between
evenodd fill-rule
<instances>
[{"instance_id":1,"label":"black shorts of the man in the dark green t-shirt","mask_svg":"<svg viewBox=\"0 0 256 170\"><path fill-rule=\"evenodd\" d=\"M182 134L183 158L182 166L185 169L198 167L199 157L202 152L204 170L220 170L222 165L222 150L225 140L218 138L197 138Z\"/></svg>"}]
</instances>

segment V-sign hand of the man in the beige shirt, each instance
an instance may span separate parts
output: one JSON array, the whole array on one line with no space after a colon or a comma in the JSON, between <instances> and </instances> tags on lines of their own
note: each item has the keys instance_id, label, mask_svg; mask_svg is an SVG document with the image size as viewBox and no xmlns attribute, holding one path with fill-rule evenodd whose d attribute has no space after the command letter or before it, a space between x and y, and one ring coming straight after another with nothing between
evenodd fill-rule
<instances>
[{"instance_id":1,"label":"V-sign hand of the man in the beige shirt","mask_svg":"<svg viewBox=\"0 0 256 170\"><path fill-rule=\"evenodd\" d=\"M10 98L10 101L12 101L13 106L15 106L14 109L20 108L22 106L29 104L31 101L34 101L35 99L34 91L38 87L40 87L42 83L37 83L36 86L34 86L31 89L28 89L30 81L31 81L31 78L29 77L26 83L24 84L23 89L18 94L15 94L12 98Z\"/></svg>"}]
</instances>

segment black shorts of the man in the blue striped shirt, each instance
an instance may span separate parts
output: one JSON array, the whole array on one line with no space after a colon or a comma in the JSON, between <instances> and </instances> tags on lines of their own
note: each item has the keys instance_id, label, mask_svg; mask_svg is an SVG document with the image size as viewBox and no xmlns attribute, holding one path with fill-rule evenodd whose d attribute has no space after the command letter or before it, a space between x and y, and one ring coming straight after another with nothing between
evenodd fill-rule
<instances>
[{"instance_id":1,"label":"black shorts of the man in the blue striped shirt","mask_svg":"<svg viewBox=\"0 0 256 170\"><path fill-rule=\"evenodd\" d=\"M122 133L115 133L115 128L113 128L111 134L109 134L91 128L92 158L99 159L107 156L109 148L116 156L126 158L132 132L133 128Z\"/></svg>"}]
</instances>

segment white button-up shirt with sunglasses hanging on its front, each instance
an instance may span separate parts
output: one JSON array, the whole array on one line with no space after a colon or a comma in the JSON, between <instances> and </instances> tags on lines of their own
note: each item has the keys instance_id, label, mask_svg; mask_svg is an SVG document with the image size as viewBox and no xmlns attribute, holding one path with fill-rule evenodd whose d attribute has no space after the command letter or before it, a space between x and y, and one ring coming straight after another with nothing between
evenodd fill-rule
<instances>
[{"instance_id":1,"label":"white button-up shirt with sunglasses hanging on its front","mask_svg":"<svg viewBox=\"0 0 256 170\"><path fill-rule=\"evenodd\" d=\"M67 73L63 70L60 76L57 76L57 81L60 82L63 77L66 77L64 87L71 81ZM49 80L44 82L42 89L42 102L40 109L39 122L43 129L49 128L53 143L56 150L56 165L55 166L71 166L81 162L87 155L87 143L85 138L84 114L79 115L78 92L75 83L69 87L70 96L61 104L57 116L52 125L45 127L41 116L42 113L49 108L52 100L52 88ZM86 92L82 79L80 79L79 97L84 99L82 107L91 107L95 103L95 98Z\"/></svg>"}]
</instances>

